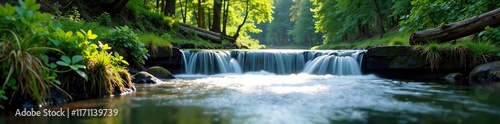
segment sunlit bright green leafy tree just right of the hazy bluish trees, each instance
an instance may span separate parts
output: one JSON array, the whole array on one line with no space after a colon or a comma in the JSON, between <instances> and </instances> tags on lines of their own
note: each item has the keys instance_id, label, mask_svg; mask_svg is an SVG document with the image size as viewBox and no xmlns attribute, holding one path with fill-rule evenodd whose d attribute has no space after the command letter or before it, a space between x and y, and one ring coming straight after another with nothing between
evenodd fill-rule
<instances>
[{"instance_id":1,"label":"sunlit bright green leafy tree just right of the hazy bluish trees","mask_svg":"<svg viewBox=\"0 0 500 124\"><path fill-rule=\"evenodd\" d=\"M353 34L356 32L359 34L359 27L375 22L375 8L370 0L317 0L313 5L314 18L318 19L316 31L324 34L325 42L339 41L343 36L356 35Z\"/></svg>"}]
</instances>

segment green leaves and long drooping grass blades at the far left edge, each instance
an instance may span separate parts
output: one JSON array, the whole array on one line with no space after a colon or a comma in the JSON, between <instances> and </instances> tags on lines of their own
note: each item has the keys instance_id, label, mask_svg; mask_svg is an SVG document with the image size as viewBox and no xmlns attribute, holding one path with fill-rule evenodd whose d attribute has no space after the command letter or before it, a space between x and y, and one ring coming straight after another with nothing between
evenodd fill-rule
<instances>
[{"instance_id":1,"label":"green leaves and long drooping grass blades at the far left edge","mask_svg":"<svg viewBox=\"0 0 500 124\"><path fill-rule=\"evenodd\" d=\"M12 96L30 97L41 104L50 97L49 88L57 87L45 53L61 51L46 47L49 30L43 24L51 15L38 9L35 0L19 1L19 6L0 5L0 71L7 72L0 75L5 80L0 102L11 89Z\"/></svg>"}]
</instances>

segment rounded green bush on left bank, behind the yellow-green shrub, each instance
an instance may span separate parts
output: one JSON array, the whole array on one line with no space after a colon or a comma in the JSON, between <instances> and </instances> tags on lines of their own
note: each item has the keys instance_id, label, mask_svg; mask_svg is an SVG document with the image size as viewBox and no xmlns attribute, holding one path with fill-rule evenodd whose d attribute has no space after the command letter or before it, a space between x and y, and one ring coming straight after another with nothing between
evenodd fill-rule
<instances>
[{"instance_id":1,"label":"rounded green bush on left bank, behind the yellow-green shrub","mask_svg":"<svg viewBox=\"0 0 500 124\"><path fill-rule=\"evenodd\" d=\"M115 27L109 30L109 33L103 40L115 47L114 51L121 55L128 55L126 60L144 64L145 60L148 59L148 50L144 43L128 26Z\"/></svg>"}]
</instances>

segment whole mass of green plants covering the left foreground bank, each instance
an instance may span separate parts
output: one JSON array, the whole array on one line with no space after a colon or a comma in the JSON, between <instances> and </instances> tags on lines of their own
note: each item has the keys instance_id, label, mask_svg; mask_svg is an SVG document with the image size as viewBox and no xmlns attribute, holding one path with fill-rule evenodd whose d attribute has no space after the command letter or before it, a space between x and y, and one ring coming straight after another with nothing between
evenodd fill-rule
<instances>
[{"instance_id":1,"label":"whole mass of green plants covering the left foreground bank","mask_svg":"<svg viewBox=\"0 0 500 124\"><path fill-rule=\"evenodd\" d=\"M121 83L94 85L99 86L92 87L94 89L116 92L116 88L123 91L123 86L130 86L127 84L130 77L125 77L130 74L122 67L128 63L122 56L106 52L110 49L107 44L98 46L92 43L90 40L96 39L97 35L91 30L76 33L62 30L60 23L52 22L51 15L39 12L39 8L35 0L19 1L19 6L0 5L0 71L6 72L0 74L0 107L7 100L6 96L11 96L11 100L24 97L38 104L44 103L50 99L50 88L62 90L58 85L69 86L76 82L85 84L85 78L95 84L109 80ZM98 48L104 50L99 51ZM104 67L111 70L94 68L95 63L106 63L95 59L107 59L109 63ZM112 75L94 80L98 73Z\"/></svg>"}]
</instances>

